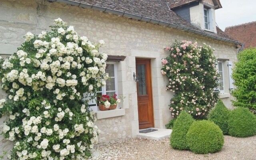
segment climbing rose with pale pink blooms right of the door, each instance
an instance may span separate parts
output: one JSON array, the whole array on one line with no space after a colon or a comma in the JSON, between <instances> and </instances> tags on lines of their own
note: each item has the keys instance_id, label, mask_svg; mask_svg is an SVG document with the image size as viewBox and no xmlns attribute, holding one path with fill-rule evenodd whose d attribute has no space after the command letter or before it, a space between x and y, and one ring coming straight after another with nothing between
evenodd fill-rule
<instances>
[{"instance_id":1,"label":"climbing rose with pale pink blooms right of the door","mask_svg":"<svg viewBox=\"0 0 256 160\"><path fill-rule=\"evenodd\" d=\"M183 40L166 47L170 55L162 59L161 73L168 78L166 90L176 93L170 111L177 117L186 110L196 119L204 119L218 99L219 74L211 46Z\"/></svg>"}]
</instances>

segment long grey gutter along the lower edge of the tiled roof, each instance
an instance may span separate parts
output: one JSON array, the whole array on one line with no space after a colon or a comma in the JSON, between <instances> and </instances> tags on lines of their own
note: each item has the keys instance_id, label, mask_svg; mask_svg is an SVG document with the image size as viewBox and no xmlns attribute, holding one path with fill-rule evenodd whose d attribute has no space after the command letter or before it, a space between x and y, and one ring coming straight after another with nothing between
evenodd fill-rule
<instances>
[{"instance_id":1,"label":"long grey gutter along the lower edge of the tiled roof","mask_svg":"<svg viewBox=\"0 0 256 160\"><path fill-rule=\"evenodd\" d=\"M86 4L86 3L82 3L82 2L78 2L78 1L74 1L74 0L48 0L48 1L71 4L71 5L74 5L74 6L80 6L82 8L92 8L94 10L98 10L98 11L101 11L101 12L108 12L108 13L116 14L118 16L126 16L126 17L129 17L129 18L133 18L133 19L136 19L136 20L141 20L141 21L144 21L144 22L152 22L154 24L160 24L162 26L177 28L179 30L184 30L184 31L192 32L194 34L199 34L199 35L207 36L207 37L214 38L214 39L217 39L217 40L221 40L221 41L224 41L224 42L230 42L230 43L238 44L240 46L244 46L244 43L236 42L234 40L228 40L228 39L225 39L225 38L220 38L220 37L217 37L217 36L213 36L211 34L200 32L200 31L197 31L197 30L192 30L192 29L182 27L182 26L179 26L179 25L176 25L176 24L171 24L171 23L168 23L168 22L163 22L163 21L160 21L160 20L155 20L155 19L152 19L152 18L144 17L144 16L138 16L138 15L135 15L135 14L130 14L130 13L126 13L126 12L122 12L122 11L118 11L118 10L113 10L113 9L110 9L110 8L94 6L94 5L91 5L91 4Z\"/></svg>"}]
</instances>

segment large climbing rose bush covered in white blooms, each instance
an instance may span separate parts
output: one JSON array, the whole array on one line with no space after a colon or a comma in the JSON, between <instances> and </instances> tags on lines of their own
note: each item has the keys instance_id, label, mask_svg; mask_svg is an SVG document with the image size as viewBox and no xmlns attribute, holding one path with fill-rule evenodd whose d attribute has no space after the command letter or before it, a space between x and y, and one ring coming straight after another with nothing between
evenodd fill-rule
<instances>
[{"instance_id":1,"label":"large climbing rose bush covered in white blooms","mask_svg":"<svg viewBox=\"0 0 256 160\"><path fill-rule=\"evenodd\" d=\"M98 142L96 118L82 100L106 84L104 44L78 36L60 18L50 32L28 32L18 51L0 60L2 134L15 142L12 160L82 160ZM96 95L96 94L95 94Z\"/></svg>"}]
</instances>

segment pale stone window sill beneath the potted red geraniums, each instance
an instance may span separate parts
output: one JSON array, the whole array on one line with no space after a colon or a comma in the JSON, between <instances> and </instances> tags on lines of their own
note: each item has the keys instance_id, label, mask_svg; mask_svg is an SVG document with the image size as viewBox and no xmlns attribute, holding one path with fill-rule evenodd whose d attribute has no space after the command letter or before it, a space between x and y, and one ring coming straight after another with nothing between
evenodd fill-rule
<instances>
[{"instance_id":1,"label":"pale stone window sill beneath the potted red geraniums","mask_svg":"<svg viewBox=\"0 0 256 160\"><path fill-rule=\"evenodd\" d=\"M124 108L116 108L114 110L98 110L96 112L96 118L104 119L104 118L111 118L111 117L117 117L117 116L124 116L125 115L125 109Z\"/></svg>"}]
</instances>

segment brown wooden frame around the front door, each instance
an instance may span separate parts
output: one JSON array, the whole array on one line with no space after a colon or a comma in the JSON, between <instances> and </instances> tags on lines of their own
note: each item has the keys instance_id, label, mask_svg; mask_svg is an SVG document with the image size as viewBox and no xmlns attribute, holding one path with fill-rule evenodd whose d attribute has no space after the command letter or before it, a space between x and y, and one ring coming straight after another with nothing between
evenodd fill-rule
<instances>
[{"instance_id":1,"label":"brown wooden frame around the front door","mask_svg":"<svg viewBox=\"0 0 256 160\"><path fill-rule=\"evenodd\" d=\"M152 88L151 59L150 58L135 58L135 69L136 69L136 61L137 60L148 60L148 62L149 62L149 69L148 69L149 73L148 74L149 74L149 78L150 78L150 80L149 80L150 83L148 84L148 88L150 88L150 92L148 92L148 93L150 93L150 100L151 100L151 106L152 106L152 110L151 110L151 112L152 112L152 124L153 124L152 127L154 127L155 126L155 122L154 122L154 105L153 105L153 92L152 92L153 88ZM137 97L138 97L138 82L136 82L136 92L137 92ZM138 101L138 99L137 99L137 101ZM138 114L138 116L139 116L139 114ZM140 126L139 126L139 129L140 129Z\"/></svg>"}]
</instances>

